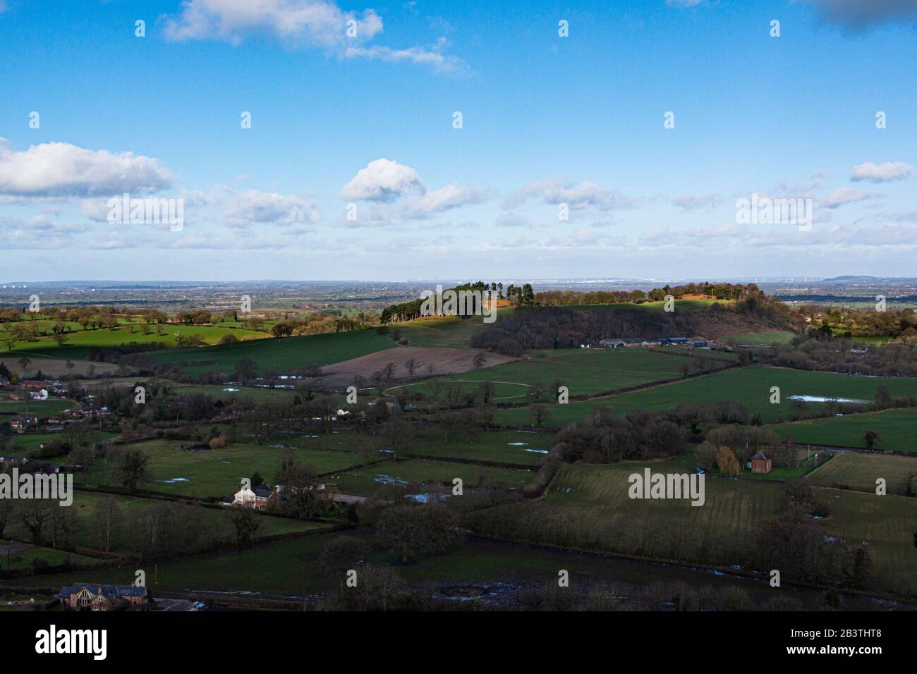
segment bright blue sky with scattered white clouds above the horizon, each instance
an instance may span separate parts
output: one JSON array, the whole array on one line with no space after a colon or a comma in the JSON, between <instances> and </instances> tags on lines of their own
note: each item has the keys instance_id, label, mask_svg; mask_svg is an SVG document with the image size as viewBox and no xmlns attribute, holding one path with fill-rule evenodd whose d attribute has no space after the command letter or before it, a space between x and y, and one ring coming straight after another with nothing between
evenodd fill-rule
<instances>
[{"instance_id":1,"label":"bright blue sky with scattered white clouds above the horizon","mask_svg":"<svg viewBox=\"0 0 917 674\"><path fill-rule=\"evenodd\" d=\"M913 275L917 0L0 8L2 281Z\"/></svg>"}]
</instances>

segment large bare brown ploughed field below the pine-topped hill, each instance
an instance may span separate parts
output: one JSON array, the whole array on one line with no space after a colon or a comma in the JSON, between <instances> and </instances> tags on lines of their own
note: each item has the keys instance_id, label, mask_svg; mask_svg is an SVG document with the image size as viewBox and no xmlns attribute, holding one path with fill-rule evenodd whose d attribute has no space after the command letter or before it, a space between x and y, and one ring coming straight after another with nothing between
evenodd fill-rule
<instances>
[{"instance_id":1,"label":"large bare brown ploughed field below the pine-topped hill","mask_svg":"<svg viewBox=\"0 0 917 674\"><path fill-rule=\"evenodd\" d=\"M396 347L384 351L376 351L367 356L344 360L343 362L327 365L322 368L324 376L321 385L330 389L342 389L350 385L353 378L361 374L369 380L370 375L376 370L381 370L389 363L395 365L395 379L404 381L411 379L404 361L415 359L417 368L414 377L427 377L431 374L429 367L433 366L432 374L458 374L474 370L474 357L478 351L472 348L430 348L430 347ZM496 353L487 353L485 368L492 365L508 363L514 358L501 356Z\"/></svg>"}]
</instances>

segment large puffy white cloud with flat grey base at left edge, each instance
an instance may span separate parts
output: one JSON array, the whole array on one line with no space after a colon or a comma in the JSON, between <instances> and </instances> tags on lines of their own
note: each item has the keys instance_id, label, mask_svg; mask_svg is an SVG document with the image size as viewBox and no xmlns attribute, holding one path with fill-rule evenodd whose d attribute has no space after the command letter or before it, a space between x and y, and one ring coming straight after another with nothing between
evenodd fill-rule
<instances>
[{"instance_id":1,"label":"large puffy white cloud with flat grey base at left edge","mask_svg":"<svg viewBox=\"0 0 917 674\"><path fill-rule=\"evenodd\" d=\"M150 193L171 184L158 160L133 152L42 143L14 152L0 138L0 193L14 196L91 196Z\"/></svg>"}]
</instances>

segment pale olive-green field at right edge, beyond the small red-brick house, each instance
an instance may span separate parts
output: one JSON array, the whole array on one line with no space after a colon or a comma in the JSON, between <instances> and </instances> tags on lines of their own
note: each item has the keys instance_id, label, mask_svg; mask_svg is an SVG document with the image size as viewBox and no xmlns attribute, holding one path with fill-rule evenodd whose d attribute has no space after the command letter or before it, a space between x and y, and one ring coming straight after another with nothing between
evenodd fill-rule
<instances>
[{"instance_id":1,"label":"pale olive-green field at right edge, beyond the small red-brick house","mask_svg":"<svg viewBox=\"0 0 917 674\"><path fill-rule=\"evenodd\" d=\"M844 485L858 492L876 493L876 480L886 481L886 492L903 496L908 475L914 475L912 489L917 492L917 458L881 454L840 453L813 470L806 480L818 487Z\"/></svg>"}]
</instances>

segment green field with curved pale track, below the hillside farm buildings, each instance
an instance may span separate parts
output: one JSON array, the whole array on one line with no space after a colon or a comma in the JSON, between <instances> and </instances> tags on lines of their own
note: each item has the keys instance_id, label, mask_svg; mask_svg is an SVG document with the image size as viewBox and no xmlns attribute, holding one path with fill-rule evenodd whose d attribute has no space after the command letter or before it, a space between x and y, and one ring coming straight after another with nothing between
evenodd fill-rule
<instances>
[{"instance_id":1,"label":"green field with curved pale track, below the hillside farm buildings","mask_svg":"<svg viewBox=\"0 0 917 674\"><path fill-rule=\"evenodd\" d=\"M594 395L617 389L639 386L650 381L670 381L684 376L682 367L697 372L697 359L668 353L657 353L645 348L571 348L541 351L544 358L529 359L496 365L484 370L472 370L442 381L493 381L497 398L525 395L526 390L517 384L542 383L546 398L556 400L557 392L551 389L553 381L561 381L569 394ZM414 384L425 394L430 394L429 382Z\"/></svg>"}]
</instances>

